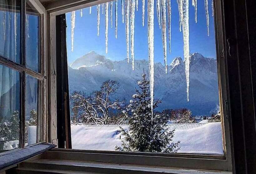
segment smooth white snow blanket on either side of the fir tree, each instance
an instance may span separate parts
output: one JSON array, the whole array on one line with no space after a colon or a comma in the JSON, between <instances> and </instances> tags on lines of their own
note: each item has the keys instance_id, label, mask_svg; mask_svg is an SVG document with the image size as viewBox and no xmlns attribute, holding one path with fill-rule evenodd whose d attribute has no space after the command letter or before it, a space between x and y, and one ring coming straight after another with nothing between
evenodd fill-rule
<instances>
[{"instance_id":1,"label":"smooth white snow blanket on either side of the fir tree","mask_svg":"<svg viewBox=\"0 0 256 174\"><path fill-rule=\"evenodd\" d=\"M128 129L128 125L121 125ZM180 141L179 153L223 154L221 123L169 124ZM119 125L72 125L72 149L110 150L121 146ZM122 139L122 136L121 136Z\"/></svg>"}]
</instances>

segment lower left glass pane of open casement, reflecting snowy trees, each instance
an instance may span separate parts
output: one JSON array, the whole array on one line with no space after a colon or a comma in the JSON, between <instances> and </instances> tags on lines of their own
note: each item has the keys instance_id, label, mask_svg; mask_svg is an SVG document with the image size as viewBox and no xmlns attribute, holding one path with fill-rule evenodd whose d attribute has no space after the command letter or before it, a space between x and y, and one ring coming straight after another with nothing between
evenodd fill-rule
<instances>
[{"instance_id":1,"label":"lower left glass pane of open casement, reflecting snowy trees","mask_svg":"<svg viewBox=\"0 0 256 174\"><path fill-rule=\"evenodd\" d=\"M20 73L0 65L0 152L19 147Z\"/></svg>"}]
</instances>

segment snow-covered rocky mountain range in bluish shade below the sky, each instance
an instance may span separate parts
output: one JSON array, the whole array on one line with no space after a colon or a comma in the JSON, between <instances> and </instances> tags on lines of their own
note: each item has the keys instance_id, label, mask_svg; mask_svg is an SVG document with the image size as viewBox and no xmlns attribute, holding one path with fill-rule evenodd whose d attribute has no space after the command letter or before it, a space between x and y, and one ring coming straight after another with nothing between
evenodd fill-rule
<instances>
[{"instance_id":1,"label":"snow-covered rocky mountain range in bluish shade below the sky","mask_svg":"<svg viewBox=\"0 0 256 174\"><path fill-rule=\"evenodd\" d=\"M218 76L216 59L205 58L199 53L190 55L190 102L186 98L185 63L176 57L168 66L155 63L155 98L161 98L158 110L188 108L193 115L211 114L219 107ZM135 94L136 80L149 75L148 61L135 60L135 69L127 60L112 61L94 51L76 59L69 66L69 88L90 94L99 90L108 79L120 83L114 98L129 101Z\"/></svg>"}]
</instances>

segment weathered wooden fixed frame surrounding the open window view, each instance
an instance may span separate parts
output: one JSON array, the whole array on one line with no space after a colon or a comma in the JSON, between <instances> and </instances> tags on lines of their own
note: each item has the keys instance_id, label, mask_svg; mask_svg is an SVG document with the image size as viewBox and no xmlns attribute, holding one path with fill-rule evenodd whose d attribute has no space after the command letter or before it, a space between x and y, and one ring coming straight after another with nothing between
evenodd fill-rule
<instances>
[{"instance_id":1,"label":"weathered wooden fixed frame surrounding the open window view","mask_svg":"<svg viewBox=\"0 0 256 174\"><path fill-rule=\"evenodd\" d=\"M138 165L153 165L164 167L181 167L206 170L232 171L231 143L229 131L229 97L226 70L226 57L224 50L226 42L224 39L224 0L214 0L214 23L216 56L218 66L219 100L222 118L223 149L224 155L202 155L189 153L140 153L140 152L115 152L97 150L76 150L76 149L52 149L51 153L64 159L82 159L97 162L111 163L130 163ZM63 1L63 3L66 1ZM57 114L56 114L56 16L63 13L80 10L82 8L95 6L110 0L75 0L71 4L63 6L56 2L50 5L48 13L48 32L49 32L49 92L50 97L50 142L57 145Z\"/></svg>"}]
</instances>

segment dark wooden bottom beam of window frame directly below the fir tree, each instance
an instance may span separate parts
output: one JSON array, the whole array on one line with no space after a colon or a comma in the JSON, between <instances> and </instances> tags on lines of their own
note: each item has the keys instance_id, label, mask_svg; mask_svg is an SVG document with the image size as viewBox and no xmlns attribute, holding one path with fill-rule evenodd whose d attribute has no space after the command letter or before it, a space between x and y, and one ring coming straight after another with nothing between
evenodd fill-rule
<instances>
[{"instance_id":1,"label":"dark wooden bottom beam of window frame directly below the fir tree","mask_svg":"<svg viewBox=\"0 0 256 174\"><path fill-rule=\"evenodd\" d=\"M85 163L134 165L144 167L189 168L193 170L232 171L226 159L212 159L202 155L174 154L173 157L158 154L99 152L75 149L52 149L43 154L43 159L53 161L74 161Z\"/></svg>"}]
</instances>

